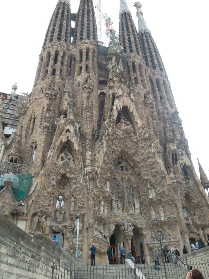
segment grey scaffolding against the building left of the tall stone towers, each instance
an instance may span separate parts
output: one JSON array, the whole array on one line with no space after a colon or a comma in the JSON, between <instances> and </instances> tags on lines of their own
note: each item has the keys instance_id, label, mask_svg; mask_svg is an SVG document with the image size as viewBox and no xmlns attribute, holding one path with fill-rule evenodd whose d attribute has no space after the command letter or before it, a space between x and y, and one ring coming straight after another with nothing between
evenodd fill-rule
<instances>
[{"instance_id":1,"label":"grey scaffolding against the building left of the tall stone towers","mask_svg":"<svg viewBox=\"0 0 209 279\"><path fill-rule=\"evenodd\" d=\"M3 95L3 130L6 137L10 137L13 132L17 129L19 116L18 110L23 105L26 105L28 101L28 94L20 92L20 94L7 94L1 93Z\"/></svg>"}]
</instances>

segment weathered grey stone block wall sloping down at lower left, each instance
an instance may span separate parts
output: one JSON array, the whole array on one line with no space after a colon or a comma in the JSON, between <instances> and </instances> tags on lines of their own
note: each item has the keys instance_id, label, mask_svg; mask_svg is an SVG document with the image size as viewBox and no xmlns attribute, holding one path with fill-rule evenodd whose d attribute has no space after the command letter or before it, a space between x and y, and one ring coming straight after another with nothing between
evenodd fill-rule
<instances>
[{"instance_id":1,"label":"weathered grey stone block wall sloping down at lower left","mask_svg":"<svg viewBox=\"0 0 209 279\"><path fill-rule=\"evenodd\" d=\"M0 215L0 278L51 278L51 266L59 261L68 267L82 264L70 250L62 251L44 234L31 237Z\"/></svg>"}]
</instances>

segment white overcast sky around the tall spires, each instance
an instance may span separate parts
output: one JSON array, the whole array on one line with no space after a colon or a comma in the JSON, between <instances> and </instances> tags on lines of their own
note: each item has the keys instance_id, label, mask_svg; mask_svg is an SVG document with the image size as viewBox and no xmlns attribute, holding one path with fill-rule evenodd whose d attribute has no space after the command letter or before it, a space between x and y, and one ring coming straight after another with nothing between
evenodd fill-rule
<instances>
[{"instance_id":1,"label":"white overcast sky around the tall spires","mask_svg":"<svg viewBox=\"0 0 209 279\"><path fill-rule=\"evenodd\" d=\"M71 1L71 12L77 12L79 2ZM57 0L1 0L0 92L9 93L15 82L17 93L31 92L56 3ZM120 1L102 0L102 4L118 32ZM127 0L127 4L137 25L134 0ZM195 169L199 176L199 157L209 177L209 1L141 0L141 4L172 86ZM103 28L105 31L105 25Z\"/></svg>"}]
</instances>

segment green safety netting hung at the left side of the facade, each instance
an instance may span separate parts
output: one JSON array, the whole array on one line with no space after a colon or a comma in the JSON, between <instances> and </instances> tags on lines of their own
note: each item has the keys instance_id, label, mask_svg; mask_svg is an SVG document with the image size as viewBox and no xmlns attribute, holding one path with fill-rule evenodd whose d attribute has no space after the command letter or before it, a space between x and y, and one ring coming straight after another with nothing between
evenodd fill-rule
<instances>
[{"instance_id":1,"label":"green safety netting hung at the left side of the facade","mask_svg":"<svg viewBox=\"0 0 209 279\"><path fill-rule=\"evenodd\" d=\"M6 181L11 181L12 192L17 201L22 201L28 194L30 182L33 178L32 174L1 174L0 175L0 191L4 187Z\"/></svg>"}]
</instances>

